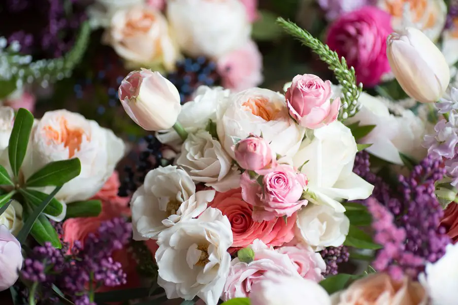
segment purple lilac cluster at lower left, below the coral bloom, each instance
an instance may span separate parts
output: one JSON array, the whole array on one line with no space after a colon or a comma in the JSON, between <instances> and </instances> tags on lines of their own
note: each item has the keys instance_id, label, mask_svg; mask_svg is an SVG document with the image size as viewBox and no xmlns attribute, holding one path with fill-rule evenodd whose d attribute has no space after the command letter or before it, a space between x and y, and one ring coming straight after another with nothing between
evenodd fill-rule
<instances>
[{"instance_id":1,"label":"purple lilac cluster at lower left, below the coral bloom","mask_svg":"<svg viewBox=\"0 0 458 305\"><path fill-rule=\"evenodd\" d=\"M76 305L95 305L88 295L88 283L111 287L125 284L121 264L113 261L111 254L127 244L131 233L132 224L115 218L102 223L97 234L90 234L84 247L75 241L70 254L54 249L50 243L36 247L25 259L21 277L40 284L39 298L48 298L54 283L72 296Z\"/></svg>"}]
</instances>

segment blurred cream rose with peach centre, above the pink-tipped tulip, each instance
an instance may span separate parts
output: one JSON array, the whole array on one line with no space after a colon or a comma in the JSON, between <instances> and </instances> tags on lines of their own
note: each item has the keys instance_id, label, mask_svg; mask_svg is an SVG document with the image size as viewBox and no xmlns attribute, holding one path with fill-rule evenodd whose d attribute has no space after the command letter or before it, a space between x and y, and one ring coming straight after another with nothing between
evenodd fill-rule
<instances>
[{"instance_id":1,"label":"blurred cream rose with peach centre, above the pink-tipped tulip","mask_svg":"<svg viewBox=\"0 0 458 305\"><path fill-rule=\"evenodd\" d=\"M104 40L132 66L155 69L163 66L166 70L173 70L179 56L166 18L147 6L117 11Z\"/></svg>"}]
</instances>

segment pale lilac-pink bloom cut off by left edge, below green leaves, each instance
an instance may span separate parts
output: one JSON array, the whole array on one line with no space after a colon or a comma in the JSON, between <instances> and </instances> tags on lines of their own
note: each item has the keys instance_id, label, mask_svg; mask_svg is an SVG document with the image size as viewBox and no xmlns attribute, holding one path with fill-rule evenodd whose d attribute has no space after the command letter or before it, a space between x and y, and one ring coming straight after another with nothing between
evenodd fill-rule
<instances>
[{"instance_id":1,"label":"pale lilac-pink bloom cut off by left edge, below green leaves","mask_svg":"<svg viewBox=\"0 0 458 305\"><path fill-rule=\"evenodd\" d=\"M0 225L0 291L16 283L21 267L21 244L6 226Z\"/></svg>"}]
</instances>

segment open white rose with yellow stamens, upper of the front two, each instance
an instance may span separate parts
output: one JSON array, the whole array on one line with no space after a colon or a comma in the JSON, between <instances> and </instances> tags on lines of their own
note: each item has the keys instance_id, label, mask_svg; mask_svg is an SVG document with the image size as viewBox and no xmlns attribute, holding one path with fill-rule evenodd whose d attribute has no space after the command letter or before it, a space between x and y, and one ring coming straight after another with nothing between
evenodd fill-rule
<instances>
[{"instance_id":1,"label":"open white rose with yellow stamens, upper of the front two","mask_svg":"<svg viewBox=\"0 0 458 305\"><path fill-rule=\"evenodd\" d=\"M149 171L130 201L134 239L157 238L180 220L198 217L214 196L215 191L195 193L191 177L176 166Z\"/></svg>"}]
</instances>

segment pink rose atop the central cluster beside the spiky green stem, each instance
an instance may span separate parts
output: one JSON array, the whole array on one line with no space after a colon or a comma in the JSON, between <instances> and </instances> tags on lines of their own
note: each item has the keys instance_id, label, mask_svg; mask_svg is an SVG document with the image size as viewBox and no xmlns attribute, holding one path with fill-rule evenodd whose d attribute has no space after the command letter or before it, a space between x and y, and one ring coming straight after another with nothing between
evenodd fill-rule
<instances>
[{"instance_id":1,"label":"pink rose atop the central cluster beside the spiky green stem","mask_svg":"<svg viewBox=\"0 0 458 305\"><path fill-rule=\"evenodd\" d=\"M296 75L286 91L289 114L309 129L328 125L337 119L340 98L331 102L331 82L316 75Z\"/></svg>"}]
</instances>

